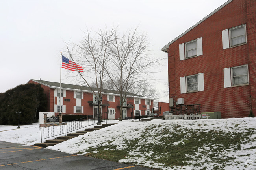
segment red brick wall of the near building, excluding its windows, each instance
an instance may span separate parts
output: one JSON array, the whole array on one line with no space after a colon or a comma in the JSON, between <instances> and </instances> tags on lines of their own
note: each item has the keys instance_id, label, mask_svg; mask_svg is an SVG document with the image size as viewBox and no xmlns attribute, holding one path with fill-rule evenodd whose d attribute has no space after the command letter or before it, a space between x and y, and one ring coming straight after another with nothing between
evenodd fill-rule
<instances>
[{"instance_id":1,"label":"red brick wall of the near building, excluding its windows","mask_svg":"<svg viewBox=\"0 0 256 170\"><path fill-rule=\"evenodd\" d=\"M234 0L169 46L169 97L201 104L201 112L221 112L223 118L247 117L252 103L256 113L255 6L255 1ZM247 44L222 49L222 30L242 24L247 27ZM180 61L179 44L200 37L203 55ZM249 66L249 85L224 88L223 69L243 64ZM180 77L198 73L204 73L204 91L180 94Z\"/></svg>"}]
</instances>

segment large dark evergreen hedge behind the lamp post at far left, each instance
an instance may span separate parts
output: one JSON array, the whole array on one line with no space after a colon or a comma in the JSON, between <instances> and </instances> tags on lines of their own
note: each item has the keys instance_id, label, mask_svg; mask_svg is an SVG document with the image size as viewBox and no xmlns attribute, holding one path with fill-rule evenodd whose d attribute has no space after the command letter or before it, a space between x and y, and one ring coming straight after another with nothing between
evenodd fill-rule
<instances>
[{"instance_id":1,"label":"large dark evergreen hedge behind the lamp post at far left","mask_svg":"<svg viewBox=\"0 0 256 170\"><path fill-rule=\"evenodd\" d=\"M39 111L46 109L47 99L40 84L21 84L15 88L0 93L0 125L30 124L37 122Z\"/></svg>"}]
</instances>

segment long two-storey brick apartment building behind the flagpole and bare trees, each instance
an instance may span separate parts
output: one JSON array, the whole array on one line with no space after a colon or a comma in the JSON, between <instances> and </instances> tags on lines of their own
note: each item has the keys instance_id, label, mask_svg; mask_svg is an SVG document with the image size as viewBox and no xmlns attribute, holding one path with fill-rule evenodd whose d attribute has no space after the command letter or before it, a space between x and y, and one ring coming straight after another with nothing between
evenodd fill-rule
<instances>
[{"instance_id":1,"label":"long two-storey brick apartment building behind the flagpole and bare trees","mask_svg":"<svg viewBox=\"0 0 256 170\"><path fill-rule=\"evenodd\" d=\"M60 104L60 83L43 80L32 80L28 83L41 84L44 89L48 104L46 112L59 114ZM98 103L95 102L95 95L89 87L72 84L61 84L61 105L63 115L97 115ZM95 88L96 91L96 88ZM118 91L103 90L101 112L108 112L108 119L118 119L120 115L120 95ZM153 99L128 93L126 102L123 105L123 119L138 115L141 110L147 110L151 114Z\"/></svg>"}]
</instances>

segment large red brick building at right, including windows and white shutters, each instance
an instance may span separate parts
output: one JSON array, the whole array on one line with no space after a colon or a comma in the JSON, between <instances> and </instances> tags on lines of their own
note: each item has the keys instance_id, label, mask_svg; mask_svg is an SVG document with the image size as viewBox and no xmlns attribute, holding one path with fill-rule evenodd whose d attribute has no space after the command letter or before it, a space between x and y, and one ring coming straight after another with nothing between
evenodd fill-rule
<instances>
[{"instance_id":1,"label":"large red brick building at right, including windows and white shutters","mask_svg":"<svg viewBox=\"0 0 256 170\"><path fill-rule=\"evenodd\" d=\"M173 107L183 98L179 104L201 104L200 112L222 118L256 113L255 0L227 1L162 51Z\"/></svg>"}]
</instances>

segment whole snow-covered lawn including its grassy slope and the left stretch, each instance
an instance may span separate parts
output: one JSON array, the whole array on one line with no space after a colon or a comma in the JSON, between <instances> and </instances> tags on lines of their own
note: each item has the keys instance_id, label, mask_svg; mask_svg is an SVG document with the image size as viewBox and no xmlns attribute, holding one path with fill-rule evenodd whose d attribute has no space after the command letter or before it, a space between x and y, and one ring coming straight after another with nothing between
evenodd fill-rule
<instances>
[{"instance_id":1,"label":"whole snow-covered lawn including its grassy slope and the left stretch","mask_svg":"<svg viewBox=\"0 0 256 170\"><path fill-rule=\"evenodd\" d=\"M48 149L80 155L122 150L126 155L119 162L163 170L256 170L256 118L108 121L113 122L118 124ZM39 124L0 126L0 131L2 141L40 142Z\"/></svg>"}]
</instances>

